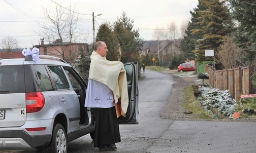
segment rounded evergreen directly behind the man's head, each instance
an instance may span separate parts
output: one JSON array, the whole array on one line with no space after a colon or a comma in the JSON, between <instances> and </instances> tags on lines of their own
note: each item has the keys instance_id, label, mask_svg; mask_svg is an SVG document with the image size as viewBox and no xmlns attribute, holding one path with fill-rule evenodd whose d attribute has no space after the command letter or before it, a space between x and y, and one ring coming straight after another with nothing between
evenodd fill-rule
<instances>
[{"instance_id":1,"label":"rounded evergreen directly behind the man's head","mask_svg":"<svg viewBox=\"0 0 256 153\"><path fill-rule=\"evenodd\" d=\"M100 25L96 36L96 42L103 41L108 47L107 59L117 61L117 37L108 23Z\"/></svg>"}]
</instances>

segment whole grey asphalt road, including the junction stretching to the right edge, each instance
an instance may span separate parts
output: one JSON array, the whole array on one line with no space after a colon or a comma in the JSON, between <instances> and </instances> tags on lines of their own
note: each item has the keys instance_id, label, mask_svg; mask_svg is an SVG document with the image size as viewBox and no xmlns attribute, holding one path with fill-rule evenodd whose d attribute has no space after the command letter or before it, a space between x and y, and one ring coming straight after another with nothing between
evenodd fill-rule
<instances>
[{"instance_id":1,"label":"whole grey asphalt road, including the junction stretching to the right edge","mask_svg":"<svg viewBox=\"0 0 256 153\"><path fill-rule=\"evenodd\" d=\"M171 74L150 71L139 83L139 124L120 125L121 142L107 152L256 152L256 122L172 121L161 118L172 92ZM100 152L89 135L68 153Z\"/></svg>"}]
</instances>

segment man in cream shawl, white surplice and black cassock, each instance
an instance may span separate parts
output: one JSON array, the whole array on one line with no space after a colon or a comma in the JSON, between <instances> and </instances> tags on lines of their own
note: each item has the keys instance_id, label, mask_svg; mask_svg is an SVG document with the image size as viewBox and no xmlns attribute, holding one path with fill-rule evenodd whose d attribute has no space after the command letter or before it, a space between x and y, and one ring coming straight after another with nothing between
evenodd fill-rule
<instances>
[{"instance_id":1,"label":"man in cream shawl, white surplice and black cassock","mask_svg":"<svg viewBox=\"0 0 256 153\"><path fill-rule=\"evenodd\" d=\"M107 52L104 42L95 43L90 56L85 107L92 108L95 115L94 147L100 150L115 150L115 143L121 141L117 118L119 113L125 117L129 98L123 63L108 61ZM121 103L120 112L117 112L115 107L118 100Z\"/></svg>"}]
</instances>

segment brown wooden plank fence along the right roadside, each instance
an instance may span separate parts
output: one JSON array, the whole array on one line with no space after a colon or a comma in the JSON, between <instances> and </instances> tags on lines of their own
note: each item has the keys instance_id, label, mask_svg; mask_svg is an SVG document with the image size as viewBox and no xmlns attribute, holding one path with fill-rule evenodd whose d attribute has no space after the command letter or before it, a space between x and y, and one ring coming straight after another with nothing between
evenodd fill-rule
<instances>
[{"instance_id":1,"label":"brown wooden plank fence along the right roadside","mask_svg":"<svg viewBox=\"0 0 256 153\"><path fill-rule=\"evenodd\" d=\"M251 84L251 74L256 66L238 67L234 69L214 70L205 64L205 73L209 74L212 88L229 90L232 98L239 101L240 95L255 94Z\"/></svg>"}]
</instances>

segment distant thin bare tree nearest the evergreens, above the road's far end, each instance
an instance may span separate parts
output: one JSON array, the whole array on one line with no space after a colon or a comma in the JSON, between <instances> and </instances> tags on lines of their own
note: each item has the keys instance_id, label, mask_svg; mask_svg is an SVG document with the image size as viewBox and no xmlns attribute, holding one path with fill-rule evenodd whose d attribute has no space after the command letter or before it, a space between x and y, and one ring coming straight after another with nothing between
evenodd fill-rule
<instances>
[{"instance_id":1,"label":"distant thin bare tree nearest the evergreens, above the road's far end","mask_svg":"<svg viewBox=\"0 0 256 153\"><path fill-rule=\"evenodd\" d=\"M161 59L161 55L159 54L160 52L160 48L161 48L161 43L167 39L167 34L166 34L166 31L164 30L164 28L158 28L156 27L154 29L154 33L152 34L152 37L153 39L156 40L156 45L157 45L157 56L158 56L158 62L159 62L159 65L160 65L160 59ZM163 62L164 58L162 56L162 62Z\"/></svg>"}]
</instances>

